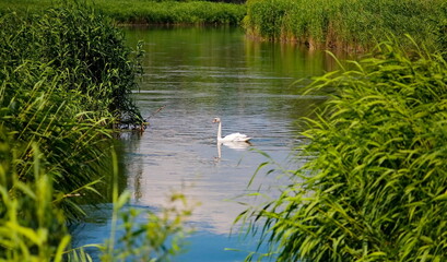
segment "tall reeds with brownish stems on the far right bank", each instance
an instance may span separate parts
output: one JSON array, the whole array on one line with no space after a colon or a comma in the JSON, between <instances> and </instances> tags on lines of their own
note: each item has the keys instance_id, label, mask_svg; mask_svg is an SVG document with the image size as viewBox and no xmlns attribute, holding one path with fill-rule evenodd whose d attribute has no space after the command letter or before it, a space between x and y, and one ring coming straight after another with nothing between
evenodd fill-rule
<instances>
[{"instance_id":1,"label":"tall reeds with brownish stems on the far right bank","mask_svg":"<svg viewBox=\"0 0 447 262\"><path fill-rule=\"evenodd\" d=\"M430 45L447 43L444 0L248 0L249 35L296 40L310 48L365 49L390 34Z\"/></svg>"}]
</instances>

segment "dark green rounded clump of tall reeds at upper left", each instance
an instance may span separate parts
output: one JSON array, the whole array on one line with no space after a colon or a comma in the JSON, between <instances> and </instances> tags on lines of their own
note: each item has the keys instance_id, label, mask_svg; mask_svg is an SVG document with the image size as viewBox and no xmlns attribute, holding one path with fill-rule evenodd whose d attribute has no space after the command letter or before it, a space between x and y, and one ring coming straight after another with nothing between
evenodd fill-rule
<instances>
[{"instance_id":1,"label":"dark green rounded clump of tall reeds at upper left","mask_svg":"<svg viewBox=\"0 0 447 262\"><path fill-rule=\"evenodd\" d=\"M3 15L2 66L11 69L25 61L46 63L55 74L63 74L60 81L67 92L79 92L83 110L141 122L130 99L137 88L138 64L129 58L131 50L125 46L123 35L93 10L71 4Z\"/></svg>"}]
</instances>

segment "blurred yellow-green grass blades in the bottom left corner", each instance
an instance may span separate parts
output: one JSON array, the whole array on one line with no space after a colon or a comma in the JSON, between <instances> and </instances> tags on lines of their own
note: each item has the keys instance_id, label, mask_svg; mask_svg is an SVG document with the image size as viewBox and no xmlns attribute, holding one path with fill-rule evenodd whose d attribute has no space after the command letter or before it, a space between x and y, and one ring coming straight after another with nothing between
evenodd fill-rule
<instances>
[{"instance_id":1,"label":"blurred yellow-green grass blades in the bottom left corner","mask_svg":"<svg viewBox=\"0 0 447 262\"><path fill-rule=\"evenodd\" d=\"M0 258L7 261L61 261L70 236L63 214L54 209L51 175L42 168L40 155L32 145L33 182L22 182L16 172L13 143L0 129Z\"/></svg>"}]
</instances>

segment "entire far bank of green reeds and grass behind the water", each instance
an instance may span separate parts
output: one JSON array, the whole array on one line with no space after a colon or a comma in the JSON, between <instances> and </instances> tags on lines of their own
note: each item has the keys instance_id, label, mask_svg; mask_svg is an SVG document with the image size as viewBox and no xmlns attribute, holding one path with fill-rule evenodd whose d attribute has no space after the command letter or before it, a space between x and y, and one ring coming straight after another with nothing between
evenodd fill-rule
<instances>
[{"instance_id":1,"label":"entire far bank of green reeds and grass behind the water","mask_svg":"<svg viewBox=\"0 0 447 262\"><path fill-rule=\"evenodd\" d=\"M117 24L231 24L260 40L296 41L310 49L367 51L377 43L404 35L433 49L447 46L447 3L443 0L248 0L246 3L211 1L87 1ZM49 0L7 0L5 10L40 10Z\"/></svg>"}]
</instances>

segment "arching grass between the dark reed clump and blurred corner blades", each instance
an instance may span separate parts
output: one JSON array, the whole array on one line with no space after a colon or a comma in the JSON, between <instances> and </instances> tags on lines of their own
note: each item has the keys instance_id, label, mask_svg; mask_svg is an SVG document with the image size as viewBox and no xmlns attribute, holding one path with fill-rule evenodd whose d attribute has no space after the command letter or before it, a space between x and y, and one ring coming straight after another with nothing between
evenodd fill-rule
<instances>
[{"instance_id":1,"label":"arching grass between the dark reed clump and blurred corner blades","mask_svg":"<svg viewBox=\"0 0 447 262\"><path fill-rule=\"evenodd\" d=\"M82 211L69 195L79 191L95 192L92 186L99 179L106 164L102 150L107 146L110 131L104 118L93 118L80 111L80 97L63 88L64 74L57 74L47 64L27 61L17 68L0 70L0 123L13 141L13 169L27 183L35 180L33 144L46 156L40 168L52 174L55 194L70 219Z\"/></svg>"}]
</instances>

